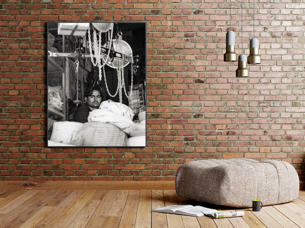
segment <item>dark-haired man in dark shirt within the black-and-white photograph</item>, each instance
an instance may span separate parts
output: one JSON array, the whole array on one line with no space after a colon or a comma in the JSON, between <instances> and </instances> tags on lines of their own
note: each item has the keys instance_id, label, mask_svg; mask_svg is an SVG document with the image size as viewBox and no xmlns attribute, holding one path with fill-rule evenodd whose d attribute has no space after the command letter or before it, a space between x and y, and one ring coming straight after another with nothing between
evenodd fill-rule
<instances>
[{"instance_id":1,"label":"dark-haired man in dark shirt within the black-and-white photograph","mask_svg":"<svg viewBox=\"0 0 305 228\"><path fill-rule=\"evenodd\" d=\"M85 104L81 105L75 112L73 121L86 123L88 122L89 112L99 108L103 97L101 91L96 87L89 87L84 93Z\"/></svg>"}]
</instances>

